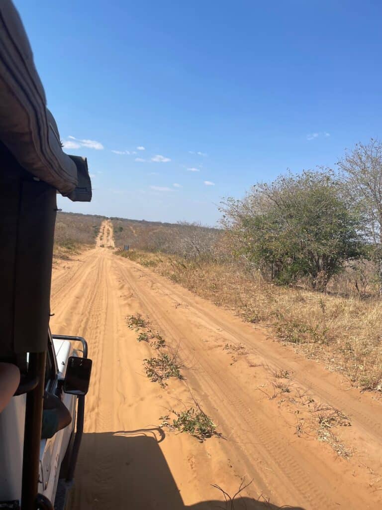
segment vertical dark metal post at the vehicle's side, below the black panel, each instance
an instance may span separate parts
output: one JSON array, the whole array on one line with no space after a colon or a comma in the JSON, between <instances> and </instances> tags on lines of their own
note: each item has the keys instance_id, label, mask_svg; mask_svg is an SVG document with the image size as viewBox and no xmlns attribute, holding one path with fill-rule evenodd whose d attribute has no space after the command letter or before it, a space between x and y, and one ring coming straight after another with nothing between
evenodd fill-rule
<instances>
[{"instance_id":1,"label":"vertical dark metal post at the vehicle's side, below the black panel","mask_svg":"<svg viewBox=\"0 0 382 510\"><path fill-rule=\"evenodd\" d=\"M24 449L22 459L21 510L35 510L40 470L40 441L44 396L46 351L29 354L28 374L38 385L26 394Z\"/></svg>"}]
</instances>

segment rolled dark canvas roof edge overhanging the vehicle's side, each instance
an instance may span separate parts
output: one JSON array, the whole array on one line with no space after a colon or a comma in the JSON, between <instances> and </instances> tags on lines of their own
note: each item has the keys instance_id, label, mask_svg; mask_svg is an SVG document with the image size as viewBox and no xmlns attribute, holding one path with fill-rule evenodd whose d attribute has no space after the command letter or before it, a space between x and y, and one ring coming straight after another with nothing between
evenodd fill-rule
<instances>
[{"instance_id":1,"label":"rolled dark canvas roof edge overhanging the vehicle's side","mask_svg":"<svg viewBox=\"0 0 382 510\"><path fill-rule=\"evenodd\" d=\"M0 140L21 167L62 195L91 200L86 159L62 150L28 37L11 0L0 2Z\"/></svg>"}]
</instances>

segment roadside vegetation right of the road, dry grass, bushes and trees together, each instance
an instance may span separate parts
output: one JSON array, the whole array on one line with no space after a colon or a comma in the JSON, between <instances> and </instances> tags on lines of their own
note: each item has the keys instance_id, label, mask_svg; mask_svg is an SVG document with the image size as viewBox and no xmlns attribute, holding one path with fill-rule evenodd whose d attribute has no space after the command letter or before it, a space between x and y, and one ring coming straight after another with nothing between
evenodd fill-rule
<instances>
[{"instance_id":1,"label":"roadside vegetation right of the road, dry grass, bushes and trees together","mask_svg":"<svg viewBox=\"0 0 382 510\"><path fill-rule=\"evenodd\" d=\"M220 230L173 225L168 244L152 231L150 248L119 254L382 391L382 145L259 183L221 211Z\"/></svg>"}]
</instances>

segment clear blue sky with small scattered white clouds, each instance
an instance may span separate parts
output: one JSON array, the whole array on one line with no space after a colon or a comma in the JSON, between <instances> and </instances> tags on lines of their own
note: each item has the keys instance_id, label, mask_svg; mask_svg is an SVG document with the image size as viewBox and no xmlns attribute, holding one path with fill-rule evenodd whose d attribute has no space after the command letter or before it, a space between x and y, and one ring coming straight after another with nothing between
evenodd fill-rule
<instances>
[{"instance_id":1,"label":"clear blue sky with small scattered white clouds","mask_svg":"<svg viewBox=\"0 0 382 510\"><path fill-rule=\"evenodd\" d=\"M380 136L379 0L15 5L93 175L65 211L214 224L222 197Z\"/></svg>"}]
</instances>

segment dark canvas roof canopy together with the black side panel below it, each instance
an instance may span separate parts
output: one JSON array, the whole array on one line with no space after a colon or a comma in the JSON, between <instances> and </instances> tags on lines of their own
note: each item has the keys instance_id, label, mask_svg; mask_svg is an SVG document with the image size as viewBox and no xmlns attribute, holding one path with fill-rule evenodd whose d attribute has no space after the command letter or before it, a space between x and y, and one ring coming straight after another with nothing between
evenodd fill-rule
<instances>
[{"instance_id":1,"label":"dark canvas roof canopy together with the black side panel below it","mask_svg":"<svg viewBox=\"0 0 382 510\"><path fill-rule=\"evenodd\" d=\"M0 2L0 360L46 350L56 194L90 201L86 158L62 150L32 49Z\"/></svg>"}]
</instances>

